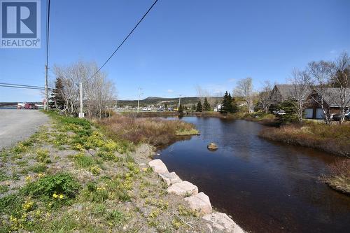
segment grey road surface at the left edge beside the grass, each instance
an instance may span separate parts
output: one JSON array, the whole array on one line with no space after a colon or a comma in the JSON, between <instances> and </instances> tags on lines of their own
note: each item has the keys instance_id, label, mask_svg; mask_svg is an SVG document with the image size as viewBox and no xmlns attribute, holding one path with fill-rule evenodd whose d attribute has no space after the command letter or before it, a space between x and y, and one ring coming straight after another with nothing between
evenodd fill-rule
<instances>
[{"instance_id":1,"label":"grey road surface at the left edge beside the grass","mask_svg":"<svg viewBox=\"0 0 350 233\"><path fill-rule=\"evenodd\" d=\"M0 109L0 150L27 139L46 122L48 116L40 111Z\"/></svg>"}]
</instances>

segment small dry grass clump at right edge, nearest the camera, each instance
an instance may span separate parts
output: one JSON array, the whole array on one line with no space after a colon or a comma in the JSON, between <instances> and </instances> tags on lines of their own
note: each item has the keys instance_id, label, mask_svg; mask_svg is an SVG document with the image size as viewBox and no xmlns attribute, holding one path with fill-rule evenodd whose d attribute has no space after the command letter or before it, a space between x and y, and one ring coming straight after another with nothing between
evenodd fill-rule
<instances>
[{"instance_id":1,"label":"small dry grass clump at right edge, nearest the camera","mask_svg":"<svg viewBox=\"0 0 350 233\"><path fill-rule=\"evenodd\" d=\"M330 176L325 176L323 181L330 188L350 195L350 160L342 160L330 165Z\"/></svg>"}]
</instances>

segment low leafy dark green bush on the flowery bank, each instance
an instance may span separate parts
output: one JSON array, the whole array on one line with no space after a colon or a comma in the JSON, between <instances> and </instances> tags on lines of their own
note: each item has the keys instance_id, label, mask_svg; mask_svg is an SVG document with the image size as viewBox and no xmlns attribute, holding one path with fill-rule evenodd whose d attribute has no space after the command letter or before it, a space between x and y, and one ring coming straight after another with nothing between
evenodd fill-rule
<instances>
[{"instance_id":1,"label":"low leafy dark green bush on the flowery bank","mask_svg":"<svg viewBox=\"0 0 350 233\"><path fill-rule=\"evenodd\" d=\"M65 198L72 199L76 197L79 188L79 183L70 174L59 173L28 183L23 192L33 197L51 198L53 195L64 195Z\"/></svg>"}]
</instances>

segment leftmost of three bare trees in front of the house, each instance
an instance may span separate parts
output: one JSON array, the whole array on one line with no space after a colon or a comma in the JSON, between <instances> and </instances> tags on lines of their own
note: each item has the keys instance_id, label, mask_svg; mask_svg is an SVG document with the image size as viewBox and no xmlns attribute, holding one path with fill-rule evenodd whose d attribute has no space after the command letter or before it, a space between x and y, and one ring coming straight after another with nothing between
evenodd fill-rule
<instances>
[{"instance_id":1,"label":"leftmost of three bare trees in front of the house","mask_svg":"<svg viewBox=\"0 0 350 233\"><path fill-rule=\"evenodd\" d=\"M290 90L291 103L297 112L297 119L302 122L304 109L311 94L311 77L307 71L294 69L290 81L293 85Z\"/></svg>"}]
</instances>

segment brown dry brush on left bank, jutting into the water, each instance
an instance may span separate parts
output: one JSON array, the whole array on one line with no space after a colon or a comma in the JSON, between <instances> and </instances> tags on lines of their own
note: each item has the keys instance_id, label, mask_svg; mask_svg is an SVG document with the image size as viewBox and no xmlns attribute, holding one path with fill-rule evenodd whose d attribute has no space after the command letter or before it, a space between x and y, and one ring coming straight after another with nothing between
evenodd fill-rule
<instances>
[{"instance_id":1,"label":"brown dry brush on left bank, jutting into the water","mask_svg":"<svg viewBox=\"0 0 350 233\"><path fill-rule=\"evenodd\" d=\"M113 115L100 124L111 137L133 143L150 143L153 146L171 143L177 135L198 134L197 130L193 130L194 125L181 120Z\"/></svg>"}]
</instances>

